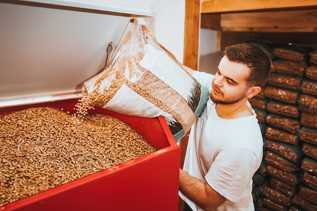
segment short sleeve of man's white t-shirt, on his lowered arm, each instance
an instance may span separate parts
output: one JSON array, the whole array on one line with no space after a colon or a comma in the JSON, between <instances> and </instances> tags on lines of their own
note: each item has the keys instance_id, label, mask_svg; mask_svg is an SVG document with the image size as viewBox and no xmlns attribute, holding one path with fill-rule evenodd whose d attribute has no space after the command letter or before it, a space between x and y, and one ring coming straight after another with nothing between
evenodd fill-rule
<instances>
[{"instance_id":1,"label":"short sleeve of man's white t-shirt, on his lowered arm","mask_svg":"<svg viewBox=\"0 0 317 211\"><path fill-rule=\"evenodd\" d=\"M205 179L220 195L238 202L250 187L260 164L261 160L249 149L226 149L217 155Z\"/></svg>"}]
</instances>

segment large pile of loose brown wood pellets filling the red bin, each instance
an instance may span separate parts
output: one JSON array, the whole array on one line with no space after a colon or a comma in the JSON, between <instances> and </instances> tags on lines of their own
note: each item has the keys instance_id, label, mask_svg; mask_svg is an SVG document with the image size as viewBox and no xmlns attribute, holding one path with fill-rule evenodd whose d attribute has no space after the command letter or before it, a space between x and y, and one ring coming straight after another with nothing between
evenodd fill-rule
<instances>
[{"instance_id":1,"label":"large pile of loose brown wood pellets filling the red bin","mask_svg":"<svg viewBox=\"0 0 317 211\"><path fill-rule=\"evenodd\" d=\"M0 115L0 206L157 150L112 116L75 117L49 107Z\"/></svg>"}]
</instances>

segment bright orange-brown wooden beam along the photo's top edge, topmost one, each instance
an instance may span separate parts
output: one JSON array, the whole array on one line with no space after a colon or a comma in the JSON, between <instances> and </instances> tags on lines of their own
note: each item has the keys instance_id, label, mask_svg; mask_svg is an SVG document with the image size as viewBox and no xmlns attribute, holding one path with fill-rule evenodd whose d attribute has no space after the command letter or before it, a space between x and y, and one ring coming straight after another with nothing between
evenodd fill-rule
<instances>
[{"instance_id":1,"label":"bright orange-brown wooden beam along the photo's top edge, topmost one","mask_svg":"<svg viewBox=\"0 0 317 211\"><path fill-rule=\"evenodd\" d=\"M300 9L317 7L317 0L209 0L202 1L202 13L228 13L241 11Z\"/></svg>"}]
</instances>

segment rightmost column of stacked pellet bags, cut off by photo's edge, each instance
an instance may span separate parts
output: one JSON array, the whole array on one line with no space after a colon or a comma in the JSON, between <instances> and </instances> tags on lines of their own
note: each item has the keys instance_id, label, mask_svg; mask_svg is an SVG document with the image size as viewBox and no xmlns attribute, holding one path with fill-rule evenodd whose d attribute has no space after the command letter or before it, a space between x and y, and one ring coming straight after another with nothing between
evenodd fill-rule
<instances>
[{"instance_id":1,"label":"rightmost column of stacked pellet bags, cut off by photo's edge","mask_svg":"<svg viewBox=\"0 0 317 211\"><path fill-rule=\"evenodd\" d=\"M299 110L301 113L299 139L303 143L301 181L293 203L303 210L317 210L317 52L309 53L310 66L306 68L301 86Z\"/></svg>"}]
</instances>

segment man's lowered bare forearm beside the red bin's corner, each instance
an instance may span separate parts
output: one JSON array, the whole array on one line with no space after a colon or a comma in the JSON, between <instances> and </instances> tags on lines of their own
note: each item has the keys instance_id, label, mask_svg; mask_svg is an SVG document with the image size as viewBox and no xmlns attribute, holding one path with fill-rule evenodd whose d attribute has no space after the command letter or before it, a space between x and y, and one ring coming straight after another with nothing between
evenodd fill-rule
<instances>
[{"instance_id":1,"label":"man's lowered bare forearm beside the red bin's corner","mask_svg":"<svg viewBox=\"0 0 317 211\"><path fill-rule=\"evenodd\" d=\"M226 198L210 187L207 182L191 177L181 169L179 170L179 190L205 210L215 210L226 201Z\"/></svg>"}]
</instances>

